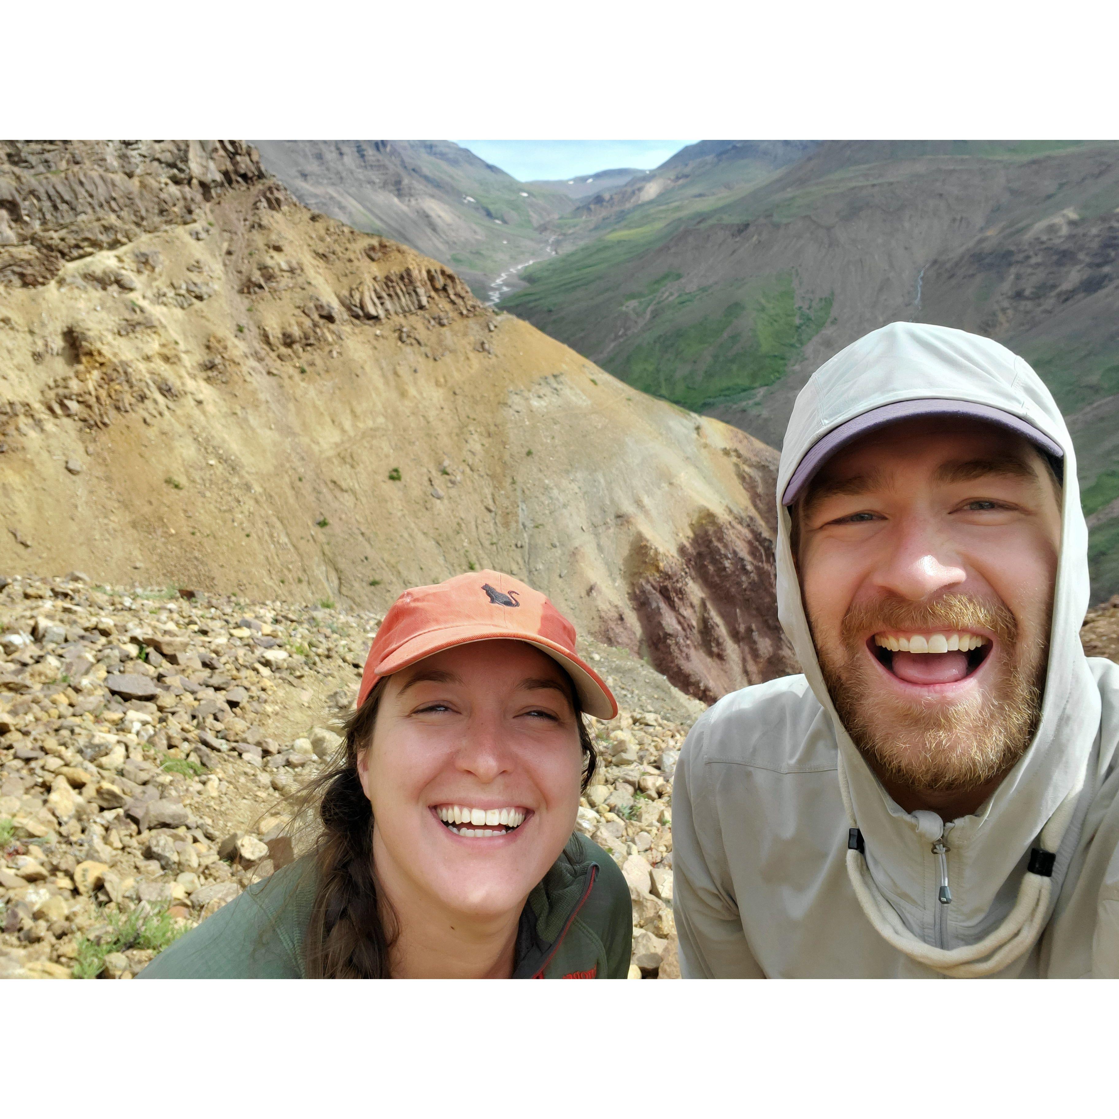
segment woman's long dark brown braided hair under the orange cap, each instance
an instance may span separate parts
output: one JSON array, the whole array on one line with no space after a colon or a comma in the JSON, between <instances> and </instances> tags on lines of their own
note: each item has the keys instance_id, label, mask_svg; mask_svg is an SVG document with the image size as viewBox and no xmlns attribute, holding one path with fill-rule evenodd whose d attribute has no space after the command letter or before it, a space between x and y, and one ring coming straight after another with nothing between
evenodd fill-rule
<instances>
[{"instance_id":1,"label":"woman's long dark brown braided hair under the orange cap","mask_svg":"<svg viewBox=\"0 0 1119 1119\"><path fill-rule=\"evenodd\" d=\"M594 775L598 758L575 685L560 666L575 712L583 752L582 789ZM303 941L309 979L388 979L389 952L398 930L378 892L373 866L373 808L357 772L358 754L368 746L377 722L385 680L346 720L345 736L326 769L295 799L297 815L314 818L310 857L318 886Z\"/></svg>"}]
</instances>

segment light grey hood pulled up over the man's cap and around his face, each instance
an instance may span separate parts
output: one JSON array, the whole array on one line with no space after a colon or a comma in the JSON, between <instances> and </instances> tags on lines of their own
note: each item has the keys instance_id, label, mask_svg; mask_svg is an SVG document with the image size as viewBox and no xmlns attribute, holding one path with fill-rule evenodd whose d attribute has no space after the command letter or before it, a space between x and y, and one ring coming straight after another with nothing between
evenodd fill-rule
<instances>
[{"instance_id":1,"label":"light grey hood pulled up over the man's cap and around his face","mask_svg":"<svg viewBox=\"0 0 1119 1119\"><path fill-rule=\"evenodd\" d=\"M944 948L974 943L1006 915L1029 848L1082 781L1100 726L1099 688L1080 643L1089 601L1088 527L1080 506L1072 439L1049 389L997 342L947 327L896 322L859 339L821 366L793 407L778 474L778 608L808 684L838 743L869 873L910 930L933 942L927 899L928 845L918 817L887 796L839 722L809 634L781 506L792 472L811 445L848 420L897 401L946 398L985 404L1025 420L1064 451L1061 555L1054 595L1042 717L1029 749L994 796L951 833L952 904L943 906ZM924 814L922 814L924 815ZM1054 882L1068 867L1079 827L1057 854Z\"/></svg>"}]
</instances>

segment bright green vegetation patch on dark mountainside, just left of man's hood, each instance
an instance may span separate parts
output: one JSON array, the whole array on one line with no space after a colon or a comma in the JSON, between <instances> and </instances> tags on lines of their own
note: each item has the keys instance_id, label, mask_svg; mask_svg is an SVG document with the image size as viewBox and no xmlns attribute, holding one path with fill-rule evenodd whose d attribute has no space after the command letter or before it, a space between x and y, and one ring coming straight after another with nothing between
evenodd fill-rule
<instances>
[{"instance_id":1,"label":"bright green vegetation patch on dark mountainside, just left of man's hood","mask_svg":"<svg viewBox=\"0 0 1119 1119\"><path fill-rule=\"evenodd\" d=\"M698 412L779 380L831 317L830 294L798 304L788 272L742 289L742 298L717 314L703 314L716 297L713 289L679 297L665 318L683 312L692 321L639 342L611 372L636 388Z\"/></svg>"}]
</instances>

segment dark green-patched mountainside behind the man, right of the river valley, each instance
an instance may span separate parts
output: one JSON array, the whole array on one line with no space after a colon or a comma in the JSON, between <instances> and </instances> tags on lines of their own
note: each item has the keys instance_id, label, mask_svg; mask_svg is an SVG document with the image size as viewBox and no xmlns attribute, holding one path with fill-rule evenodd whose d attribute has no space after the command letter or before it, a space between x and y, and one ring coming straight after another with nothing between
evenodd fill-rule
<instances>
[{"instance_id":1,"label":"dark green-patched mountainside behind the man, right of the river valley","mask_svg":"<svg viewBox=\"0 0 1119 1119\"><path fill-rule=\"evenodd\" d=\"M560 218L601 213L501 307L773 445L812 369L868 330L997 338L1069 419L1093 594L1119 590L1119 144L829 142L770 150L765 172L765 152L707 143L678 182L665 164Z\"/></svg>"}]
</instances>

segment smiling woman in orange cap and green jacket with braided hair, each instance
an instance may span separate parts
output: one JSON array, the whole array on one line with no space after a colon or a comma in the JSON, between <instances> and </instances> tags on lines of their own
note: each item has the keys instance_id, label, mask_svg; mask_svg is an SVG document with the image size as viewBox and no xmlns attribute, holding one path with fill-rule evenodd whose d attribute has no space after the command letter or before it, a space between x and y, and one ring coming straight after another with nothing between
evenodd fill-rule
<instances>
[{"instance_id":1,"label":"smiling woman in orange cap and green jacket with braided hair","mask_svg":"<svg viewBox=\"0 0 1119 1119\"><path fill-rule=\"evenodd\" d=\"M573 833L606 686L544 595L486 571L406 591L345 744L303 794L313 852L143 978L624 978L629 890Z\"/></svg>"}]
</instances>

